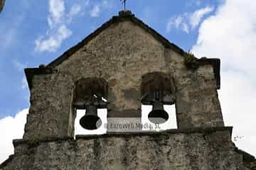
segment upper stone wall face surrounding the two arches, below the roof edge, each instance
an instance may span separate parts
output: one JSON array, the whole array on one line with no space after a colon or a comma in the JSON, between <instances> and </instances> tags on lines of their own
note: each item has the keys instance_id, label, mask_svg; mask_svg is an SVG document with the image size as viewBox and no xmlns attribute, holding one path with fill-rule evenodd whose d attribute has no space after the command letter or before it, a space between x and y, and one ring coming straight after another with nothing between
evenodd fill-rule
<instances>
[{"instance_id":1,"label":"upper stone wall face surrounding the two arches, below the roof edge","mask_svg":"<svg viewBox=\"0 0 256 170\"><path fill-rule=\"evenodd\" d=\"M33 77L24 139L71 136L73 84L86 77L108 82L109 117L139 117L142 76L149 72L174 78L178 128L223 126L213 67L188 69L183 56L131 21L112 23L55 69Z\"/></svg>"}]
</instances>

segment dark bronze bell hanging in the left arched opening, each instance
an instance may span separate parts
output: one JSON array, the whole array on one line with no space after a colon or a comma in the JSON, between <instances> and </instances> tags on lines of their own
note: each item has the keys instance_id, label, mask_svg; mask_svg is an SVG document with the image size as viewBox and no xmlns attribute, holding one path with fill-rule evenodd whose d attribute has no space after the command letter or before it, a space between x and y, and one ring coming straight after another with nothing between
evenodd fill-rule
<instances>
[{"instance_id":1,"label":"dark bronze bell hanging in the left arched opening","mask_svg":"<svg viewBox=\"0 0 256 170\"><path fill-rule=\"evenodd\" d=\"M86 106L85 115L80 119L80 125L87 130L100 128L102 121L97 115L97 107L94 105Z\"/></svg>"}]
</instances>

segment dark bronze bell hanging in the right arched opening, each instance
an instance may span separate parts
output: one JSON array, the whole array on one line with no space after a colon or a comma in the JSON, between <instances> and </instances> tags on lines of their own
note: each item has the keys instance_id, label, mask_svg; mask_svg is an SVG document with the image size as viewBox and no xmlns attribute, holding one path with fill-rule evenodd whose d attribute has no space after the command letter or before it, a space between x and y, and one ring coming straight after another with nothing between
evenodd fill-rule
<instances>
[{"instance_id":1,"label":"dark bronze bell hanging in the right arched opening","mask_svg":"<svg viewBox=\"0 0 256 170\"><path fill-rule=\"evenodd\" d=\"M169 114L164 111L164 104L160 101L154 101L152 111L148 115L151 123L165 123L169 119Z\"/></svg>"}]
</instances>

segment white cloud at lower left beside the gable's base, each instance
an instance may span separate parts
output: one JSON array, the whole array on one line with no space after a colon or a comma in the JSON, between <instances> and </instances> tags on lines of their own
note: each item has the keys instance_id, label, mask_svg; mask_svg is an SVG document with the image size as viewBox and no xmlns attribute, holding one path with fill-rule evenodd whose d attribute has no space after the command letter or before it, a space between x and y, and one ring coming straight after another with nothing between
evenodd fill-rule
<instances>
[{"instance_id":1,"label":"white cloud at lower left beside the gable's base","mask_svg":"<svg viewBox=\"0 0 256 170\"><path fill-rule=\"evenodd\" d=\"M15 118L9 116L0 120L0 164L4 162L10 154L14 154L12 140L21 139L23 137L27 113L28 108L17 113Z\"/></svg>"}]
</instances>

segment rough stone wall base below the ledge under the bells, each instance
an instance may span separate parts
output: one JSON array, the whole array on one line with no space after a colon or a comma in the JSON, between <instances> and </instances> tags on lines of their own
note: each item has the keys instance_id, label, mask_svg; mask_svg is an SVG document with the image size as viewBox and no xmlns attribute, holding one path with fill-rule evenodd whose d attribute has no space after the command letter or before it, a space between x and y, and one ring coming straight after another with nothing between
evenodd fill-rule
<instances>
[{"instance_id":1,"label":"rough stone wall base below the ledge under the bells","mask_svg":"<svg viewBox=\"0 0 256 170\"><path fill-rule=\"evenodd\" d=\"M14 142L15 156L1 170L177 169L248 170L229 130L169 131Z\"/></svg>"}]
</instances>

